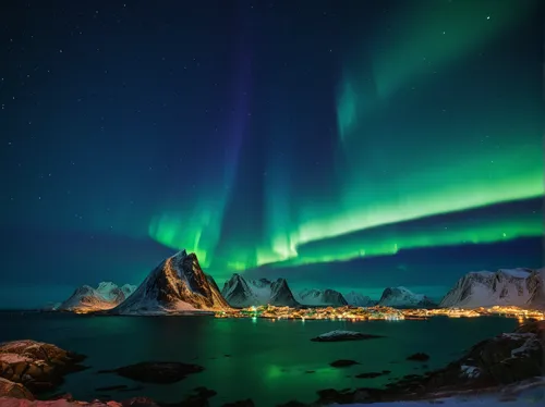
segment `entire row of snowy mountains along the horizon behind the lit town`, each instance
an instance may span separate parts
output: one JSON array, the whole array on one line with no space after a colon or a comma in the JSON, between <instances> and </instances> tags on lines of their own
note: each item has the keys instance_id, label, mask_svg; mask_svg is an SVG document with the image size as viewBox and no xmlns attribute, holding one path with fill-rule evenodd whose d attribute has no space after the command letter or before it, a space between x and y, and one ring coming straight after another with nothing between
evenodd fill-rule
<instances>
[{"instance_id":1,"label":"entire row of snowy mountains along the horizon behind the lit town","mask_svg":"<svg viewBox=\"0 0 545 407\"><path fill-rule=\"evenodd\" d=\"M443 298L439 307L476 308L513 305L545 308L545 269L505 269L497 272L470 272ZM293 293L286 279L246 280L233 274L219 289L211 275L205 274L195 254L182 250L161 261L138 286L121 287L102 282L93 288L84 285L65 301L48 305L48 310L112 314L165 314L210 312L259 305L289 307L371 307L435 308L422 294L403 286L387 287L378 301L358 292L341 294L331 288L305 288Z\"/></svg>"}]
</instances>

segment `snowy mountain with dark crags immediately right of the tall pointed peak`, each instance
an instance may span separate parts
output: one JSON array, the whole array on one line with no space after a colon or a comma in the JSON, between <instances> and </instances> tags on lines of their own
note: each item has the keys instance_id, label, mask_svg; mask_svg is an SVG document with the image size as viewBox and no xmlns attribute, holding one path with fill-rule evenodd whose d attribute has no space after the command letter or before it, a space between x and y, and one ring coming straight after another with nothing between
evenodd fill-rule
<instances>
[{"instance_id":1,"label":"snowy mountain with dark crags immediately right of the tall pointed peak","mask_svg":"<svg viewBox=\"0 0 545 407\"><path fill-rule=\"evenodd\" d=\"M267 279L245 280L240 274L233 274L223 284L221 294L232 307L299 305L284 279L275 282Z\"/></svg>"}]
</instances>

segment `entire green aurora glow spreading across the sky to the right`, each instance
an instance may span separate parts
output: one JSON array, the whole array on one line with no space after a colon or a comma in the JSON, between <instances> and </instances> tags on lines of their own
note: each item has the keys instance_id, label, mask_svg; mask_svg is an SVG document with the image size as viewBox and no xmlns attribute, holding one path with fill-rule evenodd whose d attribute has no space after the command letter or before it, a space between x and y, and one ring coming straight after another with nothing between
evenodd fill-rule
<instances>
[{"instance_id":1,"label":"entire green aurora glow spreading across the sky to the right","mask_svg":"<svg viewBox=\"0 0 545 407\"><path fill-rule=\"evenodd\" d=\"M533 99L518 109L493 102L465 115L460 108L443 109L439 119L433 119L436 113L429 108L412 111L404 106L408 113L429 115L429 121L390 123L390 104L403 103L403 95L414 88L422 89L423 106L433 106L431 99L443 100L444 96L432 96L438 77L462 70L491 41L519 29L536 3L512 4L508 0L405 4L408 10L398 10L384 25L386 30L377 33L379 41L365 51L355 47L355 58L346 58L338 84L342 152L331 152L338 161L338 192L324 192L319 201L299 197L291 187L289 165L272 158L264 181L263 231L251 239L223 236L235 248L229 256L215 256L221 244L226 195L190 212L159 213L149 224L149 236L173 249L195 251L204 267L227 275L270 263L299 266L543 235L540 212L445 221L422 229L392 226L544 195L543 151L536 147L540 121L525 113L535 111L533 104L526 109ZM423 18L427 24L421 24ZM371 70L361 62L364 57L372 61ZM491 84L483 84L482 92L492 91ZM521 87L526 85L521 82ZM501 118L499 109L505 112ZM507 114L509 109L512 115ZM277 128L274 123L271 127Z\"/></svg>"}]
</instances>

